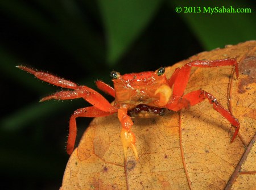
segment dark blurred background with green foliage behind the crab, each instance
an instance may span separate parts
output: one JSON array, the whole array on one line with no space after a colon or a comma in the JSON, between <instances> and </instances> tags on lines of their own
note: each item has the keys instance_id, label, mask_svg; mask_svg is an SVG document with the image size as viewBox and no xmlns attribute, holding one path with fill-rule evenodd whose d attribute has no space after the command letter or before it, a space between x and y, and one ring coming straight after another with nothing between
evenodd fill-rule
<instances>
[{"instance_id":1,"label":"dark blurred background with green foliage behind the crab","mask_svg":"<svg viewBox=\"0 0 256 190\"><path fill-rule=\"evenodd\" d=\"M69 156L69 117L84 100L40 98L61 88L26 65L96 89L121 74L156 70L226 44L255 40L254 1L0 1L1 189L59 189ZM180 6L251 13L176 13ZM194 9L194 8L193 8ZM103 92L102 92L103 94ZM110 101L109 96L106 95ZM79 142L91 119L77 119Z\"/></svg>"}]
</instances>

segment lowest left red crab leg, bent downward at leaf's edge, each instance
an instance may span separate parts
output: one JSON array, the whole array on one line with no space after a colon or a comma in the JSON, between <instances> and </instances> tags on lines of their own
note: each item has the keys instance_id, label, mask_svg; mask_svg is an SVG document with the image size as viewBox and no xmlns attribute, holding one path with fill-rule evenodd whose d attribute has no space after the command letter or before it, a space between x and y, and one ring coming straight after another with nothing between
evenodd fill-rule
<instances>
[{"instance_id":1,"label":"lowest left red crab leg, bent downward at leaf's edge","mask_svg":"<svg viewBox=\"0 0 256 190\"><path fill-rule=\"evenodd\" d=\"M76 118L77 117L104 117L112 115L114 112L105 112L94 106L77 109L69 120L69 134L67 142L67 153L73 152L76 142Z\"/></svg>"}]
</instances>

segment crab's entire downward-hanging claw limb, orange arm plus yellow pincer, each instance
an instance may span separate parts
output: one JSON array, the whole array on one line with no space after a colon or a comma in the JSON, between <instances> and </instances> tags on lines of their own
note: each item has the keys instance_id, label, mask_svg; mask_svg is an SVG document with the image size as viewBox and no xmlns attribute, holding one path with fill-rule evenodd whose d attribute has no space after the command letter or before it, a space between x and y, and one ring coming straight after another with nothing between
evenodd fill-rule
<instances>
[{"instance_id":1,"label":"crab's entire downward-hanging claw limb, orange arm plus yellow pincer","mask_svg":"<svg viewBox=\"0 0 256 190\"><path fill-rule=\"evenodd\" d=\"M138 161L139 156L135 146L136 138L134 133L130 130L131 126L133 125L133 121L131 121L130 116L127 115L127 108L119 108L117 111L117 116L122 124L121 141L123 144L123 151L125 153L125 160L127 160L127 151L130 147Z\"/></svg>"}]
</instances>

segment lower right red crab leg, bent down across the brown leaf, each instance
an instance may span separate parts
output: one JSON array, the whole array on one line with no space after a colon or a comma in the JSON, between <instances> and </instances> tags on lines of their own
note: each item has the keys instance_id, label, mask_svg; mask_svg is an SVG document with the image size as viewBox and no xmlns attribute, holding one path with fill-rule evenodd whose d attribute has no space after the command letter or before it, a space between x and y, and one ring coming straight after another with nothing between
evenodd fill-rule
<instances>
[{"instance_id":1,"label":"lower right red crab leg, bent down across the brown leaf","mask_svg":"<svg viewBox=\"0 0 256 190\"><path fill-rule=\"evenodd\" d=\"M222 105L212 94L204 90L196 90L184 95L182 98L188 100L191 106L202 102L204 99L208 99L209 103L213 105L213 108L223 117L225 117L230 122L230 124L232 124L236 128L231 142L235 140L240 129L240 123L238 122L236 117L234 117L227 109L222 107Z\"/></svg>"}]
</instances>

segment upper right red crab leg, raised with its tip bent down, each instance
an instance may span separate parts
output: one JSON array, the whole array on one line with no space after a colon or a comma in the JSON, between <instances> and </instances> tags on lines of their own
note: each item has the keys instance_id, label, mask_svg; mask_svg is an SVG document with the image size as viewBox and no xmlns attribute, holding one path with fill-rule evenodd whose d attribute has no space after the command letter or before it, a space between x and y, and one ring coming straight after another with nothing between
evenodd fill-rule
<instances>
[{"instance_id":1,"label":"upper right red crab leg, raised with its tip bent down","mask_svg":"<svg viewBox=\"0 0 256 190\"><path fill-rule=\"evenodd\" d=\"M188 79L191 71L191 67L218 67L218 66L235 66L236 77L238 78L239 71L238 71L238 64L235 59L229 60L215 60L215 61L192 61L188 64L185 64L180 69L175 70L173 76L168 80L168 83L174 83L173 87L173 98L179 99L183 93L185 88L188 84Z\"/></svg>"}]
</instances>

